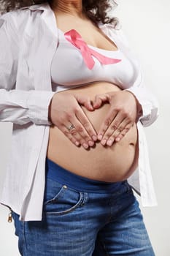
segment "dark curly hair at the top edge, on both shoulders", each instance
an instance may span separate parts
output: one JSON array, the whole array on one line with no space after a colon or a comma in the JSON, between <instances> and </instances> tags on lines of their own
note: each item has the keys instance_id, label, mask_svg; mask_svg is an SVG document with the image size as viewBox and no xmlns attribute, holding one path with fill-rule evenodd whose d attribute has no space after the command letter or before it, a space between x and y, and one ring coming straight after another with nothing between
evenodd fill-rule
<instances>
[{"instance_id":1,"label":"dark curly hair at the top edge, on both shoulders","mask_svg":"<svg viewBox=\"0 0 170 256\"><path fill-rule=\"evenodd\" d=\"M33 4L42 4L48 2L50 5L53 3L53 0L0 0L0 13L9 12L12 10L17 10L21 7L26 7ZM111 18L108 15L108 10L111 10L112 7L117 6L115 1L109 0L82 0L83 10L85 14L93 21L93 23L113 23L115 26L118 23L117 18Z\"/></svg>"}]
</instances>

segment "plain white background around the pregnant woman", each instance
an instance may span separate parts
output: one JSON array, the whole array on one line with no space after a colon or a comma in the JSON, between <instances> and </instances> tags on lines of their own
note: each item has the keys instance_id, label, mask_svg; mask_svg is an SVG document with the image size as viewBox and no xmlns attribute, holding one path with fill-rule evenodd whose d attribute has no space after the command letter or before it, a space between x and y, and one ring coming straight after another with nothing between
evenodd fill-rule
<instances>
[{"instance_id":1,"label":"plain white background around the pregnant woman","mask_svg":"<svg viewBox=\"0 0 170 256\"><path fill-rule=\"evenodd\" d=\"M160 103L160 116L145 128L158 207L142 208L156 256L170 255L169 208L169 0L122 0L114 14L120 18L131 48L142 64L144 81ZM0 192L11 138L11 124L0 124ZM17 152L16 152L17 154ZM139 199L140 200L140 199ZM7 222L8 210L0 206L0 255L19 256L18 238ZM80 255L81 256L81 255Z\"/></svg>"}]
</instances>

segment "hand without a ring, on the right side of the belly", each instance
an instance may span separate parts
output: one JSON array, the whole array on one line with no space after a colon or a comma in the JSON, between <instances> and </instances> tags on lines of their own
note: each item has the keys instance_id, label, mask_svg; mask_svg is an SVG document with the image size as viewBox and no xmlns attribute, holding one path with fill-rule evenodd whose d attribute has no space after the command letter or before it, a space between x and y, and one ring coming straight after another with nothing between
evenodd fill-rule
<instances>
[{"instance_id":1,"label":"hand without a ring, on the right side of the belly","mask_svg":"<svg viewBox=\"0 0 170 256\"><path fill-rule=\"evenodd\" d=\"M134 125L137 113L142 112L142 106L129 91L110 91L96 95L93 108L100 108L107 102L110 108L98 131L98 140L101 140L103 146L112 146L114 141L120 141Z\"/></svg>"}]
</instances>

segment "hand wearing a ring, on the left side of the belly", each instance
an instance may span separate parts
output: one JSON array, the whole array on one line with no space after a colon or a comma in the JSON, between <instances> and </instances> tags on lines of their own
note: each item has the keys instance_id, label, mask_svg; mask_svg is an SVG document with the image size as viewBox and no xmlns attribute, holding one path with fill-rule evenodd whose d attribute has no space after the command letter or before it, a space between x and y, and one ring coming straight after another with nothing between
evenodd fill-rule
<instances>
[{"instance_id":1,"label":"hand wearing a ring, on the left side of the belly","mask_svg":"<svg viewBox=\"0 0 170 256\"><path fill-rule=\"evenodd\" d=\"M50 102L49 118L76 146L85 149L94 145L97 134L80 105L93 111L90 99L82 95L56 93ZM73 126L69 130L70 126Z\"/></svg>"}]
</instances>

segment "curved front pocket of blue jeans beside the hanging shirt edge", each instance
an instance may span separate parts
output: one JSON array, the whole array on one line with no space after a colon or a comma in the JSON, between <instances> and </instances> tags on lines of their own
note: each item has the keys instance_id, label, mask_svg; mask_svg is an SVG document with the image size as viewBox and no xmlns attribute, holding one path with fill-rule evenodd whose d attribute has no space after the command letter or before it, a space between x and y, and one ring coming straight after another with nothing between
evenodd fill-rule
<instances>
[{"instance_id":1,"label":"curved front pocket of blue jeans beside the hanging shirt edge","mask_svg":"<svg viewBox=\"0 0 170 256\"><path fill-rule=\"evenodd\" d=\"M87 193L76 191L47 178L43 211L45 214L69 214L79 206L85 205L85 198L87 201L85 194Z\"/></svg>"}]
</instances>

